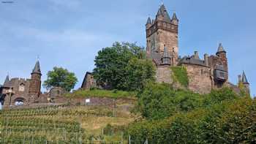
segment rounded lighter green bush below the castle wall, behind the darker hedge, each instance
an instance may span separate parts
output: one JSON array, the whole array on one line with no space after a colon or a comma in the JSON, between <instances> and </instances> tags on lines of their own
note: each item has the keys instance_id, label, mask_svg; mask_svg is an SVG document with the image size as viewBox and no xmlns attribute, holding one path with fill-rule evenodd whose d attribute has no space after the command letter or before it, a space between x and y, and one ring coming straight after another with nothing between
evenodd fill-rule
<instances>
[{"instance_id":1,"label":"rounded lighter green bush below the castle wall, behind the darker hedge","mask_svg":"<svg viewBox=\"0 0 256 144\"><path fill-rule=\"evenodd\" d=\"M174 90L170 85L148 83L138 94L138 109L144 118L167 118L178 112L187 112L203 105L203 96L191 91Z\"/></svg>"}]
</instances>

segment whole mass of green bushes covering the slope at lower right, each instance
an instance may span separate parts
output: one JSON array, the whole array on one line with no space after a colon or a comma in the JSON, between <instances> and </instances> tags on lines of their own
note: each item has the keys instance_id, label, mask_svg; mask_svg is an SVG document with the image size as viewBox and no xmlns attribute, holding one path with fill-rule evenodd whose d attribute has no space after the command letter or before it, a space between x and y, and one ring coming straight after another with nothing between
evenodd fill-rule
<instances>
[{"instance_id":1,"label":"whole mass of green bushes covering the slope at lower right","mask_svg":"<svg viewBox=\"0 0 256 144\"><path fill-rule=\"evenodd\" d=\"M230 88L200 95L148 83L138 97L146 119L129 125L134 143L256 143L256 100Z\"/></svg>"}]
</instances>

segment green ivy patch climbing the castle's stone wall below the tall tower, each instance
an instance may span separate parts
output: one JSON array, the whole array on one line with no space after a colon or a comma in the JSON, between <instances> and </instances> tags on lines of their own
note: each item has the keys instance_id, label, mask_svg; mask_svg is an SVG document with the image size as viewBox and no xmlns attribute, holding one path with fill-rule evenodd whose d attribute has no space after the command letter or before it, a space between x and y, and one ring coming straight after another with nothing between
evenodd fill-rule
<instances>
[{"instance_id":1,"label":"green ivy patch climbing the castle's stone wall below the tall tower","mask_svg":"<svg viewBox=\"0 0 256 144\"><path fill-rule=\"evenodd\" d=\"M187 88L189 86L189 77L187 76L186 67L171 67L171 70L173 72L173 80Z\"/></svg>"}]
</instances>

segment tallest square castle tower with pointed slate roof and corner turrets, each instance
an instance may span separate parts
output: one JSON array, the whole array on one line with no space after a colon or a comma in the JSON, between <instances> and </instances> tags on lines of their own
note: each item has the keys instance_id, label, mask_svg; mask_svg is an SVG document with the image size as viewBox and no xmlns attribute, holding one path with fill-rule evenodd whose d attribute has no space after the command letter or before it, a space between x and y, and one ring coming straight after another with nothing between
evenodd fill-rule
<instances>
[{"instance_id":1,"label":"tallest square castle tower with pointed slate roof and corner turrets","mask_svg":"<svg viewBox=\"0 0 256 144\"><path fill-rule=\"evenodd\" d=\"M163 55L165 48L172 56L171 65L178 63L178 18L173 13L170 18L165 5L159 7L155 20L148 18L146 23L147 53Z\"/></svg>"}]
</instances>

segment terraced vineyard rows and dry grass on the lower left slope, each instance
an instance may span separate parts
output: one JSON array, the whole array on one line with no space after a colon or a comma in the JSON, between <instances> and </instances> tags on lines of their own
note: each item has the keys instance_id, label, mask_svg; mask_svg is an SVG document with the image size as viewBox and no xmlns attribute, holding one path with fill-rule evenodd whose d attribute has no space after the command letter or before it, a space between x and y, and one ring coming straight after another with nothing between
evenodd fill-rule
<instances>
[{"instance_id":1,"label":"terraced vineyard rows and dry grass on the lower left slope","mask_svg":"<svg viewBox=\"0 0 256 144\"><path fill-rule=\"evenodd\" d=\"M1 110L0 115L0 143L126 143L124 127L134 121L128 111L93 106Z\"/></svg>"}]
</instances>

